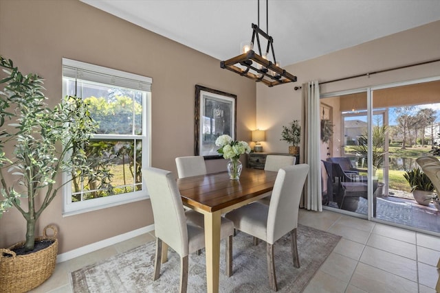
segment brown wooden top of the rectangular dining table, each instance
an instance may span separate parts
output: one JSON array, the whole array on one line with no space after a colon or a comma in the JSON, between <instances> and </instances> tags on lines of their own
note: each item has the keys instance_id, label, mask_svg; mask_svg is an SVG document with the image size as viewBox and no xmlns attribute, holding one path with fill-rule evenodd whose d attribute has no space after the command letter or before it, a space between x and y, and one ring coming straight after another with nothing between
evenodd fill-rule
<instances>
[{"instance_id":1,"label":"brown wooden top of the rectangular dining table","mask_svg":"<svg viewBox=\"0 0 440 293\"><path fill-rule=\"evenodd\" d=\"M228 172L177 179L182 202L207 212L219 211L272 191L277 172L243 168L239 180Z\"/></svg>"}]
</instances>

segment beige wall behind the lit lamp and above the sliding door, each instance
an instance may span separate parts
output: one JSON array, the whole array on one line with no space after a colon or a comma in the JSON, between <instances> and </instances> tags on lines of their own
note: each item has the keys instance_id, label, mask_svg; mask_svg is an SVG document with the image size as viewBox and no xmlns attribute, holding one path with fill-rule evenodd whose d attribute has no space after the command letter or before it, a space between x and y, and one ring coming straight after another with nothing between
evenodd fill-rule
<instances>
[{"instance_id":1,"label":"beige wall behind the lit lamp and above the sliding door","mask_svg":"<svg viewBox=\"0 0 440 293\"><path fill-rule=\"evenodd\" d=\"M294 91L294 86L300 86L310 80L325 82L438 59L440 58L439 32L440 21L428 23L412 30L290 65L286 69L298 76L296 83L283 84L272 89L258 84L256 126L261 130L267 130L267 141L261 143L265 152L287 152L287 143L280 141L282 126L301 117L301 91ZM274 46L276 47L276 43ZM295 52L292 51L292 54ZM440 62L322 84L320 91L332 93L432 76L440 76Z\"/></svg>"}]
</instances>

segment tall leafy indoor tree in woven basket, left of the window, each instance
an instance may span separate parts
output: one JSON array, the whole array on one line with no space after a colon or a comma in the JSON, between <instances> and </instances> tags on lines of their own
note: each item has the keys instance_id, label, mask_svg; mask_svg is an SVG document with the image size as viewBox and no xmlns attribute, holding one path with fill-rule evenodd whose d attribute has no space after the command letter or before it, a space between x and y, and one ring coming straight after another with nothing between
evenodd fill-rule
<instances>
[{"instance_id":1,"label":"tall leafy indoor tree in woven basket, left of the window","mask_svg":"<svg viewBox=\"0 0 440 293\"><path fill-rule=\"evenodd\" d=\"M35 237L35 224L63 187L61 173L97 176L84 152L97 125L83 99L65 97L49 108L39 75L24 75L3 56L0 67L0 217L14 207L26 220L25 241L0 251L0 292L25 292L54 270L56 228L53 237L47 227Z\"/></svg>"}]
</instances>

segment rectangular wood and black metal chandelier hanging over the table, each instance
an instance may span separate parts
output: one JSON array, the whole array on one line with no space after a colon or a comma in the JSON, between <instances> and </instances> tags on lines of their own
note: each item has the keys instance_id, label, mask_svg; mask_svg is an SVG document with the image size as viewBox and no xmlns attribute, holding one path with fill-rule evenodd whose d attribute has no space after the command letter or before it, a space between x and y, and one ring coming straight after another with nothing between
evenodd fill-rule
<instances>
[{"instance_id":1,"label":"rectangular wood and black metal chandelier hanging over the table","mask_svg":"<svg viewBox=\"0 0 440 293\"><path fill-rule=\"evenodd\" d=\"M258 0L258 17L260 25L260 1ZM220 62L220 67L228 69L232 72L239 73L239 75L255 80L256 82L263 82L267 86L276 86L278 84L286 84L288 82L296 82L296 76L285 71L280 67L279 62L276 61L274 51L274 39L269 36L268 28L268 13L267 13L267 0L266 0L266 29L267 32L263 32L259 25L252 23L252 38L251 42L243 45L241 48L241 54L234 58L230 58ZM265 54L261 54L260 36L267 40L267 46ZM254 45L256 40L256 46L258 53L254 51ZM269 60L272 52L272 60Z\"/></svg>"}]
</instances>

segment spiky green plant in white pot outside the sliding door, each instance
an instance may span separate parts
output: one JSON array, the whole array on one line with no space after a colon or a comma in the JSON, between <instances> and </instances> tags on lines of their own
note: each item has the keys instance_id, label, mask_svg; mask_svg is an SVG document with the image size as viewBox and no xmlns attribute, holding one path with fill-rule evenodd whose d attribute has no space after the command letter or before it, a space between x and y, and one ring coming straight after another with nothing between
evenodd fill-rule
<instances>
[{"instance_id":1,"label":"spiky green plant in white pot outside the sliding door","mask_svg":"<svg viewBox=\"0 0 440 293\"><path fill-rule=\"evenodd\" d=\"M430 178L418 167L406 169L404 177L411 187L415 201L418 204L429 205L434 198L434 185Z\"/></svg>"}]
</instances>

